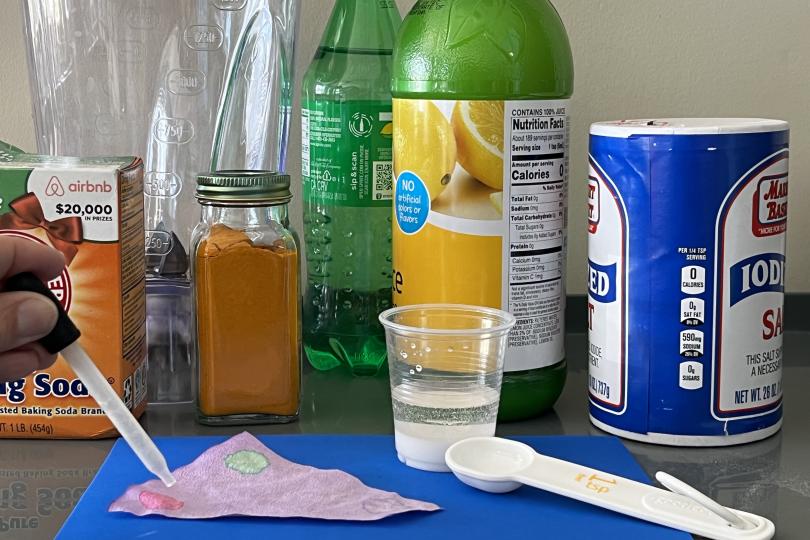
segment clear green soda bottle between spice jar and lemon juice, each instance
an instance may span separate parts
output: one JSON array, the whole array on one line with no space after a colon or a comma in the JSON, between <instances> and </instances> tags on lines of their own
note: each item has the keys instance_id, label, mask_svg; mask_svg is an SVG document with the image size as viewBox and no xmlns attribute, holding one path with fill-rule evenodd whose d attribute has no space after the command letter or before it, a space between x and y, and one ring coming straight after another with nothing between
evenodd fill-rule
<instances>
[{"instance_id":1,"label":"clear green soda bottle between spice jar and lemon juice","mask_svg":"<svg viewBox=\"0 0 810 540\"><path fill-rule=\"evenodd\" d=\"M391 307L394 0L337 0L302 90L307 283L303 340L317 370L386 363Z\"/></svg>"}]
</instances>

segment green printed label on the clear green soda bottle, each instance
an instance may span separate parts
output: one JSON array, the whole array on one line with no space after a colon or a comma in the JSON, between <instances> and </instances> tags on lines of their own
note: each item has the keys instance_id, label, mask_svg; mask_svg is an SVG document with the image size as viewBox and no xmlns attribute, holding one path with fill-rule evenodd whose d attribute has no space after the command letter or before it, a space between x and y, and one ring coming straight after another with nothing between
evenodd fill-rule
<instances>
[{"instance_id":1,"label":"green printed label on the clear green soda bottle","mask_svg":"<svg viewBox=\"0 0 810 540\"><path fill-rule=\"evenodd\" d=\"M301 111L304 199L337 206L391 205L390 101L313 101Z\"/></svg>"}]
</instances>

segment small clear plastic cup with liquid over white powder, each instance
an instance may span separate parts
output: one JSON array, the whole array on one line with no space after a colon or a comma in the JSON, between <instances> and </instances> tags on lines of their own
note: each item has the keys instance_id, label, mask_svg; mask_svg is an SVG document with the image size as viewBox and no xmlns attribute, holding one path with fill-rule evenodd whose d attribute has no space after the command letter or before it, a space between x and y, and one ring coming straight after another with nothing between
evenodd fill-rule
<instances>
[{"instance_id":1,"label":"small clear plastic cup with liquid over white powder","mask_svg":"<svg viewBox=\"0 0 810 540\"><path fill-rule=\"evenodd\" d=\"M422 304L380 314L388 346L399 460L448 471L444 453L469 437L495 435L507 336L505 311Z\"/></svg>"}]
</instances>

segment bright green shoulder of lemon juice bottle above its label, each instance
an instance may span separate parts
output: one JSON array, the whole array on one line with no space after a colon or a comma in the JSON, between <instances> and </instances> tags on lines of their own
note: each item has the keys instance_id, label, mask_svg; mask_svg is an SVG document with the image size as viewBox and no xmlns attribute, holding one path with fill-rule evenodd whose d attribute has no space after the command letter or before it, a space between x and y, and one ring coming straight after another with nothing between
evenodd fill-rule
<instances>
[{"instance_id":1,"label":"bright green shoulder of lemon juice bottle above its label","mask_svg":"<svg viewBox=\"0 0 810 540\"><path fill-rule=\"evenodd\" d=\"M394 97L556 99L573 88L568 35L546 0L419 1L394 49Z\"/></svg>"}]
</instances>

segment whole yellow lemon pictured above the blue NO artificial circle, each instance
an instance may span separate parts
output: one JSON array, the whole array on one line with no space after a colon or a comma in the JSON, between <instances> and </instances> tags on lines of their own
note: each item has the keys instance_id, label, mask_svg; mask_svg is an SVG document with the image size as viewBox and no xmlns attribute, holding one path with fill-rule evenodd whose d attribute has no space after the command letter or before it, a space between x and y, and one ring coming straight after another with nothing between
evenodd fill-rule
<instances>
[{"instance_id":1,"label":"whole yellow lemon pictured above the blue NO artificial circle","mask_svg":"<svg viewBox=\"0 0 810 540\"><path fill-rule=\"evenodd\" d=\"M411 171L424 182L430 199L444 191L456 166L453 128L435 104L394 100L394 174Z\"/></svg>"}]
</instances>

